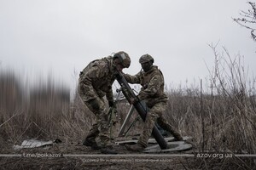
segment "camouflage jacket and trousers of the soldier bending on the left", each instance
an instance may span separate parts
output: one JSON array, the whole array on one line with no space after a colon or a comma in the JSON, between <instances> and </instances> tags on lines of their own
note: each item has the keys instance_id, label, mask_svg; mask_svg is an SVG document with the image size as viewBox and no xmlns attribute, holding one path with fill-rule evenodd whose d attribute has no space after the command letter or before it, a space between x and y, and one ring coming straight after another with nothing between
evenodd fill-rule
<instances>
[{"instance_id":1,"label":"camouflage jacket and trousers of the soldier bending on the left","mask_svg":"<svg viewBox=\"0 0 256 170\"><path fill-rule=\"evenodd\" d=\"M108 111L103 97L113 101L112 84L114 81L113 57L96 59L90 62L79 75L79 95L84 104L96 116L87 139L101 139L102 146L111 145L109 139Z\"/></svg>"}]
</instances>

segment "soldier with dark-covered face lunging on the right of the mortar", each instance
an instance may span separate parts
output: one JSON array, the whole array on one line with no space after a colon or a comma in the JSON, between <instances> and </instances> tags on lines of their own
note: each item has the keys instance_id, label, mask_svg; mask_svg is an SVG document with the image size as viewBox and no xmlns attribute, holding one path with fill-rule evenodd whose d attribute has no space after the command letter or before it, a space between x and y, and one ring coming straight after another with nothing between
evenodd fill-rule
<instances>
[{"instance_id":1,"label":"soldier with dark-covered face lunging on the right of the mortar","mask_svg":"<svg viewBox=\"0 0 256 170\"><path fill-rule=\"evenodd\" d=\"M138 99L144 100L148 106L148 113L143 126L143 132L135 145L125 145L127 150L143 151L148 145L148 139L151 136L155 122L166 131L172 133L176 140L183 140L180 133L166 121L163 112L166 110L168 97L164 93L164 77L156 65L153 65L154 59L149 54L144 54L139 59L143 71L135 76L125 74L125 79L129 83L140 83L142 85ZM136 102L132 99L131 103Z\"/></svg>"}]
</instances>

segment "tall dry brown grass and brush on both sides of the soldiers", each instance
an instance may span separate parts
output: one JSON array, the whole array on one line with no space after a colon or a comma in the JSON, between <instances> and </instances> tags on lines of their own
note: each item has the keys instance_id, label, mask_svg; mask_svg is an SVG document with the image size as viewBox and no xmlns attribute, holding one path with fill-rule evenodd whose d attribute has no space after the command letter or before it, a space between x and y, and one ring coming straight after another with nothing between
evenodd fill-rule
<instances>
[{"instance_id":1,"label":"tall dry brown grass and brush on both sides of the soldiers","mask_svg":"<svg viewBox=\"0 0 256 170\"><path fill-rule=\"evenodd\" d=\"M215 66L210 71L210 88L169 88L166 116L184 136L192 136L199 151L256 153L255 79L247 78L241 57L231 59L224 48L212 47ZM41 85L26 96L12 72L0 74L0 150L23 139L61 139L81 142L94 116L78 96L69 102L69 91L53 83ZM26 97L24 97L26 96ZM129 106L119 104L119 122ZM139 123L137 123L138 126ZM135 127L137 128L137 127ZM253 158L198 159L191 168L250 169Z\"/></svg>"}]
</instances>

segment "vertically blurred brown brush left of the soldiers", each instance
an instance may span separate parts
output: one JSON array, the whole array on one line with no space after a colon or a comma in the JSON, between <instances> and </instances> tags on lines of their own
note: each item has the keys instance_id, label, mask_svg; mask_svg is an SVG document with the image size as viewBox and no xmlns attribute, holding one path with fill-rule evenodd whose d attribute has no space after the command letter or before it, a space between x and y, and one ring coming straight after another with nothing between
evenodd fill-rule
<instances>
[{"instance_id":1,"label":"vertically blurred brown brush left of the soldiers","mask_svg":"<svg viewBox=\"0 0 256 170\"><path fill-rule=\"evenodd\" d=\"M2 72L0 80L1 137L12 143L24 138L51 138L61 117L69 113L69 91L49 83L32 90L29 98L14 72Z\"/></svg>"}]
</instances>

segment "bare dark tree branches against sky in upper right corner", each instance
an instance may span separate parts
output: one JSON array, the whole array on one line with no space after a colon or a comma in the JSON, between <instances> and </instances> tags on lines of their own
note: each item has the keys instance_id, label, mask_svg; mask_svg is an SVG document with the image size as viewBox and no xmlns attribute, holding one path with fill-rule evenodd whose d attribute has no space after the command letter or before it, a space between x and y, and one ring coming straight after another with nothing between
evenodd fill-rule
<instances>
[{"instance_id":1,"label":"bare dark tree branches against sky in upper right corner","mask_svg":"<svg viewBox=\"0 0 256 170\"><path fill-rule=\"evenodd\" d=\"M247 12L241 11L240 15L241 18L233 19L236 21L237 24L239 24L242 27L247 28L251 31L251 37L256 42L256 4L252 2L247 2L250 4L252 9L248 9Z\"/></svg>"}]
</instances>

